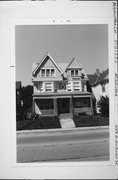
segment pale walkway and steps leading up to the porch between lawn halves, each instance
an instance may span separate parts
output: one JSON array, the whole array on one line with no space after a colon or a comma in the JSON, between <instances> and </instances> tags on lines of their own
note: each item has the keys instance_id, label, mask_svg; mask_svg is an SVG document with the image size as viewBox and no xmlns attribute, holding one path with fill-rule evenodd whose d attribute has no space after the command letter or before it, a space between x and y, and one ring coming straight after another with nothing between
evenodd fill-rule
<instances>
[{"instance_id":1,"label":"pale walkway and steps leading up to the porch between lawn halves","mask_svg":"<svg viewBox=\"0 0 118 180\"><path fill-rule=\"evenodd\" d=\"M68 129L68 128L74 128L75 127L75 123L72 119L71 114L61 114L59 116L59 121L60 121L62 129Z\"/></svg>"}]
</instances>

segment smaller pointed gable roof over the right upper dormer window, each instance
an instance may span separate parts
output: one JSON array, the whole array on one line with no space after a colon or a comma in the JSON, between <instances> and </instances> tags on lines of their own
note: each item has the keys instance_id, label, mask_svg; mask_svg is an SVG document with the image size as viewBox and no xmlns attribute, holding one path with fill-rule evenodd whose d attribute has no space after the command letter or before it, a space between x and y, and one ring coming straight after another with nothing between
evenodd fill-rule
<instances>
[{"instance_id":1,"label":"smaller pointed gable roof over the right upper dormer window","mask_svg":"<svg viewBox=\"0 0 118 180\"><path fill-rule=\"evenodd\" d=\"M67 71L68 69L75 69L75 68L82 69L82 65L80 63L78 63L75 58L73 58L71 60L71 62L69 63L69 65L67 66L65 71Z\"/></svg>"}]
</instances>

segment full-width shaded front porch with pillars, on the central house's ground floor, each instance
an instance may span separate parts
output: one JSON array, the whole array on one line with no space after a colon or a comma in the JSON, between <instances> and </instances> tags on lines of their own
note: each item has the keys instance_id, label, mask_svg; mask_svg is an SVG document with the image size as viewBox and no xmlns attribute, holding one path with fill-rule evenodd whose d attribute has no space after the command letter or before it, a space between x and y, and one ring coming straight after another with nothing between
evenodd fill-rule
<instances>
[{"instance_id":1,"label":"full-width shaded front porch with pillars, on the central house's ground floor","mask_svg":"<svg viewBox=\"0 0 118 180\"><path fill-rule=\"evenodd\" d=\"M44 116L93 115L91 93L40 93L33 95L33 111Z\"/></svg>"}]
</instances>

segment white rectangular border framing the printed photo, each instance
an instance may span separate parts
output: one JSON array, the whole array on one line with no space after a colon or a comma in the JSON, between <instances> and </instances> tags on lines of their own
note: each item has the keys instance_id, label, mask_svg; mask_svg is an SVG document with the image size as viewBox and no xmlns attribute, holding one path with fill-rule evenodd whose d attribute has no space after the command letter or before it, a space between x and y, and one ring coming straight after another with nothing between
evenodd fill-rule
<instances>
[{"instance_id":1,"label":"white rectangular border framing the printed photo","mask_svg":"<svg viewBox=\"0 0 118 180\"><path fill-rule=\"evenodd\" d=\"M16 94L15 94L15 26L16 25L87 25L87 24L108 24L108 64L109 64L109 91L110 118L109 118L109 140L110 140L110 161L95 162L38 162L38 163L17 163L16 145ZM65 166L113 166L115 165L115 83L114 83L114 34L113 18L14 18L11 20L11 137L12 137L12 166L13 167L65 167ZM111 118L112 117L112 118ZM114 120L113 120L114 119Z\"/></svg>"}]
</instances>

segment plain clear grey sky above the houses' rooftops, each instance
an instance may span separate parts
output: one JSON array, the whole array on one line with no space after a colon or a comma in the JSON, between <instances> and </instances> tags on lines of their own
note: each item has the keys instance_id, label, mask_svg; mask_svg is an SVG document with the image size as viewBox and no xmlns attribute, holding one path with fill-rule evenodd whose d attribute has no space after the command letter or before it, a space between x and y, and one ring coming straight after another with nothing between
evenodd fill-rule
<instances>
[{"instance_id":1,"label":"plain clear grey sky above the houses' rooftops","mask_svg":"<svg viewBox=\"0 0 118 180\"><path fill-rule=\"evenodd\" d=\"M32 64L49 52L57 63L69 63L74 57L87 74L108 68L108 26L17 25L15 28L16 80L32 85Z\"/></svg>"}]
</instances>

